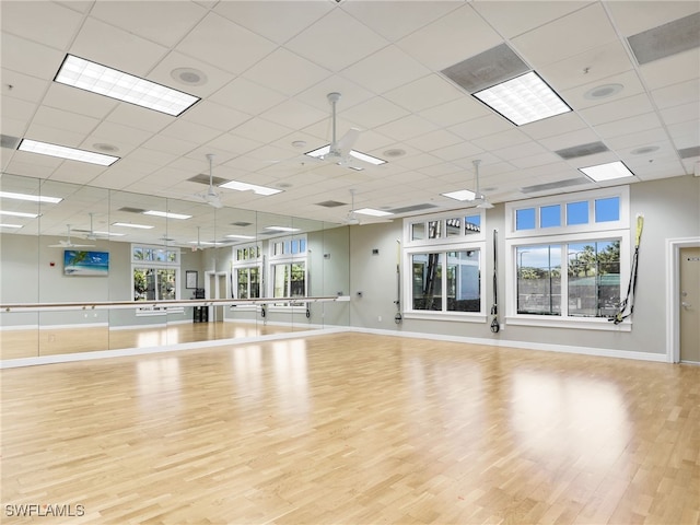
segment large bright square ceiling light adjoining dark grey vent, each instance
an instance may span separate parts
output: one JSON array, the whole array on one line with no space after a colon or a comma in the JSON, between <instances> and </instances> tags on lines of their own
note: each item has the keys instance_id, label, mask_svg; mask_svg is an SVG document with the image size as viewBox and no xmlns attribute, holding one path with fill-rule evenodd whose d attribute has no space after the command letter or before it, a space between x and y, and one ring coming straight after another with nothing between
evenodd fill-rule
<instances>
[{"instance_id":1,"label":"large bright square ceiling light adjoining dark grey vent","mask_svg":"<svg viewBox=\"0 0 700 525\"><path fill-rule=\"evenodd\" d=\"M474 96L516 126L571 110L535 71L474 93Z\"/></svg>"}]
</instances>

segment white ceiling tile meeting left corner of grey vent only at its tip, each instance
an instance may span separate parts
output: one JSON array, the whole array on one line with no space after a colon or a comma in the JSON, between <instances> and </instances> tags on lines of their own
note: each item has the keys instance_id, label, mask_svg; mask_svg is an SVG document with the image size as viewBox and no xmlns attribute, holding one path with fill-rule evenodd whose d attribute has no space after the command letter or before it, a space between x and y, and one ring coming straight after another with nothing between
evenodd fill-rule
<instances>
[{"instance_id":1,"label":"white ceiling tile meeting left corner of grey vent only at its tip","mask_svg":"<svg viewBox=\"0 0 700 525\"><path fill-rule=\"evenodd\" d=\"M427 77L430 70L396 46L387 46L353 63L342 74L376 94Z\"/></svg>"}]
</instances>

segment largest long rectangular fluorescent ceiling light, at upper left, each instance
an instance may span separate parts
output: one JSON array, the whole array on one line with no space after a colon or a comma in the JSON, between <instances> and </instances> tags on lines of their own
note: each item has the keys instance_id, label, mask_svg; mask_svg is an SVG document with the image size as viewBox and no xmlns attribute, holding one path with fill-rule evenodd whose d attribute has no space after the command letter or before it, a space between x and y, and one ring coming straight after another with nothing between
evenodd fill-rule
<instances>
[{"instance_id":1,"label":"largest long rectangular fluorescent ceiling light, at upper left","mask_svg":"<svg viewBox=\"0 0 700 525\"><path fill-rule=\"evenodd\" d=\"M199 101L197 96L122 73L73 55L66 56L66 60L54 80L61 84L148 107L174 117L182 115Z\"/></svg>"}]
</instances>

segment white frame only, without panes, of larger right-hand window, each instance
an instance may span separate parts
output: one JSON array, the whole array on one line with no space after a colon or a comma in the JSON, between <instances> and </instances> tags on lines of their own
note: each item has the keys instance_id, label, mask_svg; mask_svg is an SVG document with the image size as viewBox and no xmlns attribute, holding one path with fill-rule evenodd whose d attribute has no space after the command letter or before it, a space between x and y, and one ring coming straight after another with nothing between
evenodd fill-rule
<instances>
[{"instance_id":1,"label":"white frame only, without panes, of larger right-hand window","mask_svg":"<svg viewBox=\"0 0 700 525\"><path fill-rule=\"evenodd\" d=\"M599 199L618 197L619 218L617 221L595 222L595 201ZM561 226L539 226L539 208L561 205L562 209L570 202L588 202L588 223L565 225L565 215L562 211ZM536 228L533 230L515 230L515 214L517 210L535 208ZM620 299L623 299L629 276L625 273L630 268L633 232L630 230L630 202L629 187L611 187L580 191L574 194L542 197L505 206L505 323L514 326L537 326L557 328L581 328L594 330L630 331L631 318L619 325L608 322L607 317L582 317L569 315L569 264L568 246L570 244L619 241L620 242ZM561 315L538 315L517 313L517 248L539 245L561 245Z\"/></svg>"}]
</instances>

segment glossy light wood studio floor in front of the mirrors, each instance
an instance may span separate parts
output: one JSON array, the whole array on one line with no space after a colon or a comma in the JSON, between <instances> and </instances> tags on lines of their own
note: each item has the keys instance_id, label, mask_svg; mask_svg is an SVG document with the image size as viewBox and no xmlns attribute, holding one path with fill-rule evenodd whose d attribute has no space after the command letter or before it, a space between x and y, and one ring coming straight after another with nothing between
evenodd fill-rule
<instances>
[{"instance_id":1,"label":"glossy light wood studio floor in front of the mirrors","mask_svg":"<svg viewBox=\"0 0 700 525\"><path fill-rule=\"evenodd\" d=\"M338 334L0 378L3 524L700 521L698 366Z\"/></svg>"}]
</instances>

